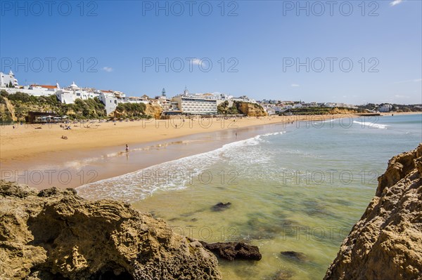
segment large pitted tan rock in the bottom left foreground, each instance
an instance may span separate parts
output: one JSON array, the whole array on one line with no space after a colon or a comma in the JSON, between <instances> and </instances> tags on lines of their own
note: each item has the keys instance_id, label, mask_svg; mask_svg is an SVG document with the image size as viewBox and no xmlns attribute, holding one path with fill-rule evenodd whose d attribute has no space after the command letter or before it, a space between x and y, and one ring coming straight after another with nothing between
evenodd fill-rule
<instances>
[{"instance_id":1,"label":"large pitted tan rock in the bottom left foreground","mask_svg":"<svg viewBox=\"0 0 422 280\"><path fill-rule=\"evenodd\" d=\"M0 181L0 279L221 279L199 241L129 204Z\"/></svg>"}]
</instances>

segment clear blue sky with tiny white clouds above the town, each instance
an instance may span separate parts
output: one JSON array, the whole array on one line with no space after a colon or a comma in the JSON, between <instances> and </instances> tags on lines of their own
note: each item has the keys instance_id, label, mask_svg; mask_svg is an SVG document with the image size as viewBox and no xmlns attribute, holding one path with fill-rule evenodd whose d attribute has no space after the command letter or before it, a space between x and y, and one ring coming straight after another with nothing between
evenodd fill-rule
<instances>
[{"instance_id":1,"label":"clear blue sky with tiny white clouds above the town","mask_svg":"<svg viewBox=\"0 0 422 280\"><path fill-rule=\"evenodd\" d=\"M3 0L0 71L133 96L422 103L421 2Z\"/></svg>"}]
</instances>

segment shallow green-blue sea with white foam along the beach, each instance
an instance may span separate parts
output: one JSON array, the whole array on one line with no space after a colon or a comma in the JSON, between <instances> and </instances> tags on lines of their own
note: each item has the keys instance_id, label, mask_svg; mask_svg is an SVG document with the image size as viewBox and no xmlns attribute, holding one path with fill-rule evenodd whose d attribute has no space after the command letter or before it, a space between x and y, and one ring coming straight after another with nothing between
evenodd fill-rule
<instances>
[{"instance_id":1,"label":"shallow green-blue sea with white foam along the beach","mask_svg":"<svg viewBox=\"0 0 422 280\"><path fill-rule=\"evenodd\" d=\"M219 260L223 279L322 279L388 160L422 142L422 114L309 118L232 133L210 151L77 191L127 201L193 239L260 248L260 261Z\"/></svg>"}]
</instances>

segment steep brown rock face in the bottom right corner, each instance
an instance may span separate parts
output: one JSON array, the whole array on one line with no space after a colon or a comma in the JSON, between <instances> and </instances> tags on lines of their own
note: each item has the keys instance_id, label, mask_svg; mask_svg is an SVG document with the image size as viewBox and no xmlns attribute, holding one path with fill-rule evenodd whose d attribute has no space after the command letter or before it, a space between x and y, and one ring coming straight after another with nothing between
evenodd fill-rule
<instances>
[{"instance_id":1,"label":"steep brown rock face in the bottom right corner","mask_svg":"<svg viewBox=\"0 0 422 280\"><path fill-rule=\"evenodd\" d=\"M422 144L390 159L324 279L422 279Z\"/></svg>"}]
</instances>

